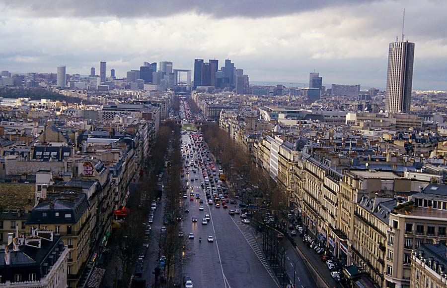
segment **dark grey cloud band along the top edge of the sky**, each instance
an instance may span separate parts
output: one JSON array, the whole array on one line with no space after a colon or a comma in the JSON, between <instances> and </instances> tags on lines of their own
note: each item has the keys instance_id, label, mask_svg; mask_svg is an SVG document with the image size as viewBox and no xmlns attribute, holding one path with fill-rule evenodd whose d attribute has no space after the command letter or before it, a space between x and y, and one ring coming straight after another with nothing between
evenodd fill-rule
<instances>
[{"instance_id":1,"label":"dark grey cloud band along the top edge of the sky","mask_svg":"<svg viewBox=\"0 0 447 288\"><path fill-rule=\"evenodd\" d=\"M0 0L8 8L38 17L167 16L184 12L218 18L269 17L375 0Z\"/></svg>"}]
</instances>

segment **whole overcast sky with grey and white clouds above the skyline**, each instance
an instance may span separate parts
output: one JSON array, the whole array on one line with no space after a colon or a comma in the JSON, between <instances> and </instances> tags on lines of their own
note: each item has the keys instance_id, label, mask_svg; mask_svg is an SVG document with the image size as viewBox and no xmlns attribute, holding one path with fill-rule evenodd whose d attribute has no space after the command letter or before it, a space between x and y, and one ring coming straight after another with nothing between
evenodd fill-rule
<instances>
[{"instance_id":1,"label":"whole overcast sky with grey and white clouds above the skyline","mask_svg":"<svg viewBox=\"0 0 447 288\"><path fill-rule=\"evenodd\" d=\"M250 81L385 87L388 44L416 44L413 89L447 90L446 0L0 0L0 70L117 77L144 61L230 58ZM296 85L296 84L295 84Z\"/></svg>"}]
</instances>

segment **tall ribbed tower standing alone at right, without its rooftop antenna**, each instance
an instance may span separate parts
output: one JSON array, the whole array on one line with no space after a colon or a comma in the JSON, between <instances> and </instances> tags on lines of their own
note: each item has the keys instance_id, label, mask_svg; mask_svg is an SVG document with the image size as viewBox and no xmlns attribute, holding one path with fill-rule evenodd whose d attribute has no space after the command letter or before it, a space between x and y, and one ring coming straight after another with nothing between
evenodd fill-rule
<instances>
[{"instance_id":1,"label":"tall ribbed tower standing alone at right, without its rooftop antenna","mask_svg":"<svg viewBox=\"0 0 447 288\"><path fill-rule=\"evenodd\" d=\"M389 44L386 77L386 109L389 113L410 113L413 84L414 43Z\"/></svg>"}]
</instances>

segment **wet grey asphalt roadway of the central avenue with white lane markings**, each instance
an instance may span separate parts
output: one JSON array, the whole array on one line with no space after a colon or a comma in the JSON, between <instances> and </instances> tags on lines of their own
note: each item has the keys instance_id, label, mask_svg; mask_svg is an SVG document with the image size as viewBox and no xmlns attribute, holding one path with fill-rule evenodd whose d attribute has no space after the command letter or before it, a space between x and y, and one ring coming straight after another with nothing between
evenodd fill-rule
<instances>
[{"instance_id":1,"label":"wet grey asphalt roadway of the central avenue with white lane markings","mask_svg":"<svg viewBox=\"0 0 447 288\"><path fill-rule=\"evenodd\" d=\"M183 144L191 143L188 134L182 135L182 140ZM192 150L188 152L190 156L194 155L195 161L196 153ZM185 161L190 160L186 158ZM191 174L182 178L183 183L189 186L188 198L182 198L182 201L190 210L184 214L182 230L185 237L190 232L194 233L194 239L186 239L183 276L190 276L195 288L278 287L253 230L249 225L242 224L238 215L230 216L227 209L208 205L205 191L200 187L200 182L204 181L201 170L197 169L197 173L192 170L190 167ZM198 179L191 181L190 178L195 176ZM199 204L195 196L190 201L191 190L194 195L200 194L203 204ZM199 211L199 205L204 206L204 211ZM230 205L229 208L234 209L234 206ZM208 225L202 225L205 214L211 217ZM192 222L193 216L198 218L198 222ZM215 238L214 242L207 241L209 235ZM202 237L202 242L199 242L199 237Z\"/></svg>"}]
</instances>

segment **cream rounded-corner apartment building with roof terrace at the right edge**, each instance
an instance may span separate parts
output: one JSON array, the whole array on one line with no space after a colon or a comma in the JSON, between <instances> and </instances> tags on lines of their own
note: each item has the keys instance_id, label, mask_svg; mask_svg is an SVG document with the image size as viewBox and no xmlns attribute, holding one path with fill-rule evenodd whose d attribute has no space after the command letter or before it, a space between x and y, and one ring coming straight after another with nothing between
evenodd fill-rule
<instances>
[{"instance_id":1,"label":"cream rounded-corner apartment building with roof terrace at the right edge","mask_svg":"<svg viewBox=\"0 0 447 288\"><path fill-rule=\"evenodd\" d=\"M386 287L410 287L412 250L422 244L446 243L446 229L446 185L429 184L397 205L386 231Z\"/></svg>"}]
</instances>

